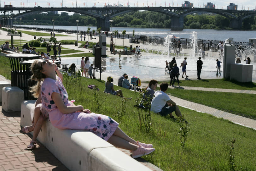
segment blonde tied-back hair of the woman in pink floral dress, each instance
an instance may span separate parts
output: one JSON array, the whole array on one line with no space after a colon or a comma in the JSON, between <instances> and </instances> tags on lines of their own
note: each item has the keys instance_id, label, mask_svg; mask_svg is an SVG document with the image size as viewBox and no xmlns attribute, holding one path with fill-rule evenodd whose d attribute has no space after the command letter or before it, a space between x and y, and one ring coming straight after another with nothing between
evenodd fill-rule
<instances>
[{"instance_id":1,"label":"blonde tied-back hair of the woman in pink floral dress","mask_svg":"<svg viewBox=\"0 0 256 171\"><path fill-rule=\"evenodd\" d=\"M40 64L38 64L38 62ZM42 72L42 67L41 67L41 64L42 62L40 62L39 60L36 60L34 61L32 64L31 64L31 71L33 73L33 75L31 76L31 80L35 80L37 81L37 84L32 86L30 88L30 92L33 92L33 96L35 98L38 98L39 96L39 93L40 93L40 89L41 89L41 81L46 77Z\"/></svg>"}]
</instances>

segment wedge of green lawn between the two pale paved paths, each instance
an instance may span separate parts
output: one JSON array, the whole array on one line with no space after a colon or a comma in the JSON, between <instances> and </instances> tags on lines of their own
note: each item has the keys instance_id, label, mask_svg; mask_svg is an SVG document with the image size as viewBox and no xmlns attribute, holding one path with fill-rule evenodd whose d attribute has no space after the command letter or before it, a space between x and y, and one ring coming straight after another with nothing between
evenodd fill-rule
<instances>
[{"instance_id":1,"label":"wedge of green lawn between the two pale paved paths","mask_svg":"<svg viewBox=\"0 0 256 171\"><path fill-rule=\"evenodd\" d=\"M158 88L160 90L160 88ZM167 93L225 112L256 119L256 94L168 89Z\"/></svg>"}]
</instances>

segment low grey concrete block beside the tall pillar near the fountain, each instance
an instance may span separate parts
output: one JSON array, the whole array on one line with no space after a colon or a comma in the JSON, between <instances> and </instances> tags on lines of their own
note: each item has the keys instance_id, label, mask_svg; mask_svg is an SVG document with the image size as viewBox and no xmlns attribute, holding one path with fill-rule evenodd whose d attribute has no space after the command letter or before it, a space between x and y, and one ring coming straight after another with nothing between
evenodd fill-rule
<instances>
[{"instance_id":1,"label":"low grey concrete block beside the tall pillar near the fountain","mask_svg":"<svg viewBox=\"0 0 256 171\"><path fill-rule=\"evenodd\" d=\"M235 63L230 65L230 80L238 82L252 82L253 80L253 65Z\"/></svg>"}]
</instances>

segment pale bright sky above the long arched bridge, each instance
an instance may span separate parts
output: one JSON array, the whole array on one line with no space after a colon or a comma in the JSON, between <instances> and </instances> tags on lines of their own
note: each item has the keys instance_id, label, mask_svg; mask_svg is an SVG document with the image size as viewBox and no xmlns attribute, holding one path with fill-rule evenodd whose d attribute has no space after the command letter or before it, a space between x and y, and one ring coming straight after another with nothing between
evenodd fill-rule
<instances>
[{"instance_id":1,"label":"pale bright sky above the long arched bridge","mask_svg":"<svg viewBox=\"0 0 256 171\"><path fill-rule=\"evenodd\" d=\"M181 7L181 4L183 3L183 1L178 1L178 0L95 0L95 1L88 1L88 0L0 0L1 3L1 7L5 5L8 5L9 3L11 5L13 5L14 7L23 7L23 4L25 7L34 7L36 6L35 3L38 3L38 6L41 7L61 7L61 4L63 2L63 6L64 7L76 7L76 3L77 3L77 7L85 7L85 4L87 5L87 7L92 7L92 6L97 6L99 4L99 7L103 7L104 4L110 4L110 5L114 5L114 4L123 4L123 6L127 6L127 3L131 6L137 6L141 7L141 6L150 6L152 7L152 3L153 6L165 6L166 3L166 7L168 6L173 6L173 7ZM248 10L252 10L255 9L256 7L256 2L254 0L215 0L215 1L206 1L206 0L191 0L190 3L194 3L194 7L203 7L207 2L211 2L213 4L216 5L216 8L223 8L226 9L227 5L229 5L229 3L235 3L237 5L238 10L242 10L242 9L246 9ZM20 5L21 3L21 5ZM148 3L148 5L147 5ZM156 3L156 5L155 5ZM170 5L169 5L170 4Z\"/></svg>"}]
</instances>

